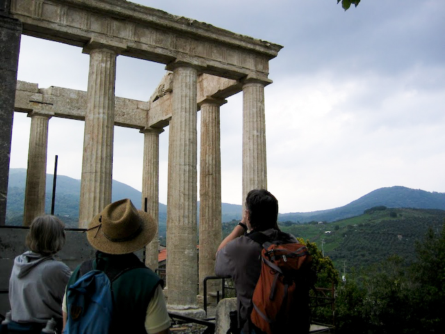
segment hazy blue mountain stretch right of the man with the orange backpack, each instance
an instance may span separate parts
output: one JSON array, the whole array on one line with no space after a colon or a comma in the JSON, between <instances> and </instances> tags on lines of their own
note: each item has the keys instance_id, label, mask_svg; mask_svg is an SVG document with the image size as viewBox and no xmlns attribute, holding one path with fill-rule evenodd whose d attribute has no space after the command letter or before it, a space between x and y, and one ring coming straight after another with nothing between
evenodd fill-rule
<instances>
[{"instance_id":1,"label":"hazy blue mountain stretch right of the man with the orange backpack","mask_svg":"<svg viewBox=\"0 0 445 334\"><path fill-rule=\"evenodd\" d=\"M391 186L371 191L367 195L336 209L280 214L280 221L306 223L309 221L338 221L363 214L364 210L383 205L385 207L410 207L416 209L445 209L445 193Z\"/></svg>"}]
</instances>

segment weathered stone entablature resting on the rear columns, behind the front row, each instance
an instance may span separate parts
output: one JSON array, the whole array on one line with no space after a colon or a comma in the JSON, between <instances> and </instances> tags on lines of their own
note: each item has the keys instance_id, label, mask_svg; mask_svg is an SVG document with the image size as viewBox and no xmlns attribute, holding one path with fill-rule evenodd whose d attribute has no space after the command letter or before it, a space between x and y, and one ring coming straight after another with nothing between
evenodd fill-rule
<instances>
[{"instance_id":1,"label":"weathered stone entablature resting on the rear columns, behind the front row","mask_svg":"<svg viewBox=\"0 0 445 334\"><path fill-rule=\"evenodd\" d=\"M197 79L197 102L208 97L224 100L238 93L241 85L236 80L201 74ZM17 81L15 111L40 112L44 115L72 120L85 120L87 92ZM172 73L165 74L155 93L147 102L115 97L115 125L133 129L163 128L172 118Z\"/></svg>"}]
</instances>

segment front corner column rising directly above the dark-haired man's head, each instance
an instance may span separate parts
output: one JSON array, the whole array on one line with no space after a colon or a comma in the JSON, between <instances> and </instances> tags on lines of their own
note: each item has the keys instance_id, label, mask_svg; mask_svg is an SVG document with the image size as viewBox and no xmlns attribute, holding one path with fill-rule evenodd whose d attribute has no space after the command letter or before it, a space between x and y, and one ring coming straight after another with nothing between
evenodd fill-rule
<instances>
[{"instance_id":1,"label":"front corner column rising directly above the dark-haired man's head","mask_svg":"<svg viewBox=\"0 0 445 334\"><path fill-rule=\"evenodd\" d=\"M264 83L243 84L243 205L252 189L267 188Z\"/></svg>"}]
</instances>

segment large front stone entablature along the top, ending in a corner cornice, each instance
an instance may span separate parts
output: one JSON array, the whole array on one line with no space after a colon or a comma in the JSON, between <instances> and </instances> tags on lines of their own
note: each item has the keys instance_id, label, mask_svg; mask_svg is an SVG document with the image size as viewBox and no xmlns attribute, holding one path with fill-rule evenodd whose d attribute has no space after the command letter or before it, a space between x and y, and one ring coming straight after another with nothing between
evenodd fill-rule
<instances>
[{"instance_id":1,"label":"large front stone entablature along the top, ending in a corner cornice","mask_svg":"<svg viewBox=\"0 0 445 334\"><path fill-rule=\"evenodd\" d=\"M147 61L186 63L229 79L270 82L268 61L282 48L124 0L11 0L10 13L26 35L87 52L99 45Z\"/></svg>"}]
</instances>

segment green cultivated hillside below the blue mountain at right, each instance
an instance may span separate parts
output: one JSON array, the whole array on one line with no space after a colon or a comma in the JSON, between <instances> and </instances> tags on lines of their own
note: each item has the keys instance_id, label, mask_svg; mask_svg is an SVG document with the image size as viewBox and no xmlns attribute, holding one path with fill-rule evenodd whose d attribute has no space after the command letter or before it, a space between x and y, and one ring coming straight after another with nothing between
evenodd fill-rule
<instances>
[{"instance_id":1,"label":"green cultivated hillside below the blue mountain at right","mask_svg":"<svg viewBox=\"0 0 445 334\"><path fill-rule=\"evenodd\" d=\"M334 223L286 224L281 228L296 237L316 242L339 271L366 267L391 255L414 260L414 243L428 228L439 231L445 211L377 207L366 214Z\"/></svg>"}]
</instances>

